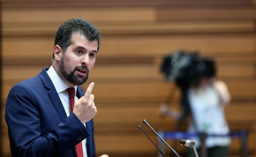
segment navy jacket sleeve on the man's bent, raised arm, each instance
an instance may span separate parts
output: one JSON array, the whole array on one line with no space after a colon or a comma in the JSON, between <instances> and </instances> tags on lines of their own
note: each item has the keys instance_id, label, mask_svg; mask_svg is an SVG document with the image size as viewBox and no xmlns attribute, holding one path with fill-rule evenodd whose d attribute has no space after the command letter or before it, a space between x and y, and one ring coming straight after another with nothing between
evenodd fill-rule
<instances>
[{"instance_id":1,"label":"navy jacket sleeve on the man's bent, raised arm","mask_svg":"<svg viewBox=\"0 0 256 157\"><path fill-rule=\"evenodd\" d=\"M41 135L37 103L29 88L16 85L7 97L5 120L11 153L19 157L56 157L89 136L87 128L71 114L47 135ZM15 155L16 156L16 155Z\"/></svg>"}]
</instances>

